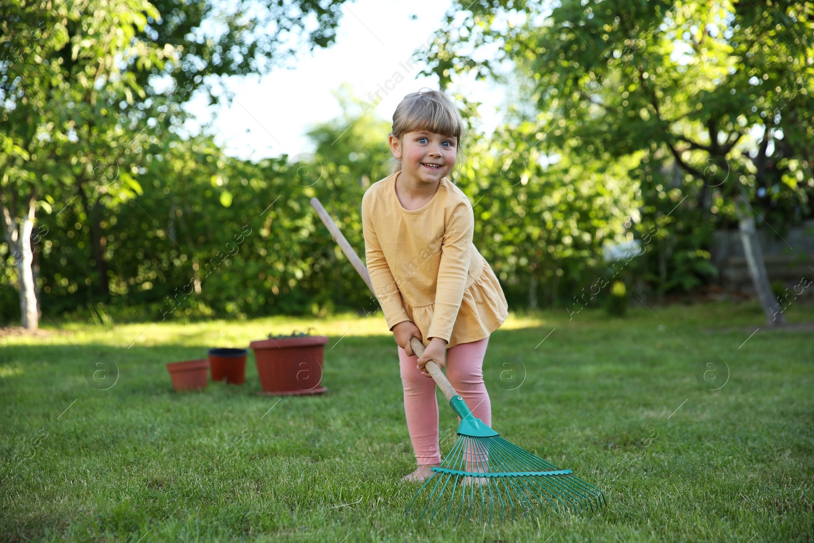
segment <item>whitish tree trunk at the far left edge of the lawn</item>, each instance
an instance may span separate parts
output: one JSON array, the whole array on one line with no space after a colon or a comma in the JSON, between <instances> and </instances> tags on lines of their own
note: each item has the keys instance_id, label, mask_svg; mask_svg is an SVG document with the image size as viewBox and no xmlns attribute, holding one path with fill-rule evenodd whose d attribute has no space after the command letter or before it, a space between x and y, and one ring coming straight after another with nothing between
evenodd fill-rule
<instances>
[{"instance_id":1,"label":"whitish tree trunk at the far left edge of the lawn","mask_svg":"<svg viewBox=\"0 0 814 543\"><path fill-rule=\"evenodd\" d=\"M37 291L34 274L31 268L33 253L31 252L31 232L34 226L34 204L37 202L34 190L28 194L28 209L18 224L17 218L12 216L9 209L2 206L3 232L6 235L11 255L14 256L17 268L18 285L20 289L20 320L22 326L29 331L36 331L39 321L37 313Z\"/></svg>"}]
</instances>

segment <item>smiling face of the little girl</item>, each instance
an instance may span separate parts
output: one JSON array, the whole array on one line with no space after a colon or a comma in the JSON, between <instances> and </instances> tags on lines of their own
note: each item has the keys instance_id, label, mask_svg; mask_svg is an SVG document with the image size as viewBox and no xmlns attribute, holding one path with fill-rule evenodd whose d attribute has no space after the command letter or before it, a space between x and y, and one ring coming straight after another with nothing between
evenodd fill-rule
<instances>
[{"instance_id":1,"label":"smiling face of the little girl","mask_svg":"<svg viewBox=\"0 0 814 543\"><path fill-rule=\"evenodd\" d=\"M390 150L401 160L401 172L414 182L437 184L453 171L457 139L426 130L390 136Z\"/></svg>"}]
</instances>

